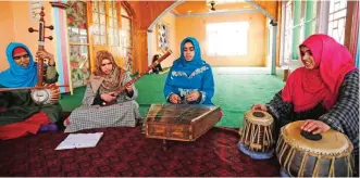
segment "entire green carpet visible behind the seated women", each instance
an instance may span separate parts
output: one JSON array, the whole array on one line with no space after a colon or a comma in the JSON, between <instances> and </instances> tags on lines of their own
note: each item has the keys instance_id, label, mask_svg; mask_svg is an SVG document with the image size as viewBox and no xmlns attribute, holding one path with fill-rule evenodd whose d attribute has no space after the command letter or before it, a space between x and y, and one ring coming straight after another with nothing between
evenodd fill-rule
<instances>
[{"instance_id":1,"label":"entire green carpet visible behind the seated women","mask_svg":"<svg viewBox=\"0 0 360 178\"><path fill-rule=\"evenodd\" d=\"M145 75L135 86L139 91L137 102L145 116L151 103L163 103L163 87L167 74ZM244 113L255 103L269 102L283 88L284 82L272 75L214 74L215 96L212 99L220 105L224 116L216 126L243 126ZM60 103L64 111L73 111L82 104L85 87L74 90L73 96L63 94Z\"/></svg>"}]
</instances>

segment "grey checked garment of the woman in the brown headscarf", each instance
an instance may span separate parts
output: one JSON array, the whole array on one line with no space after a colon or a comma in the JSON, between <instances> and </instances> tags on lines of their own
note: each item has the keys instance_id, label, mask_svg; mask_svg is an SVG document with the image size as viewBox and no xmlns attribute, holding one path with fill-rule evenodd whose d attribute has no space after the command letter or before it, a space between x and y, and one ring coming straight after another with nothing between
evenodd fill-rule
<instances>
[{"instance_id":1,"label":"grey checked garment of the woman in the brown headscarf","mask_svg":"<svg viewBox=\"0 0 360 178\"><path fill-rule=\"evenodd\" d=\"M122 82L131 80L127 73ZM129 98L125 92L119 94L115 104L109 106L92 105L96 93L92 92L90 85L87 86L83 105L75 109L70 115L70 125L65 132L75 132L83 129L127 126L135 127L140 118L139 105L135 101L138 92L133 86L134 93Z\"/></svg>"}]
</instances>

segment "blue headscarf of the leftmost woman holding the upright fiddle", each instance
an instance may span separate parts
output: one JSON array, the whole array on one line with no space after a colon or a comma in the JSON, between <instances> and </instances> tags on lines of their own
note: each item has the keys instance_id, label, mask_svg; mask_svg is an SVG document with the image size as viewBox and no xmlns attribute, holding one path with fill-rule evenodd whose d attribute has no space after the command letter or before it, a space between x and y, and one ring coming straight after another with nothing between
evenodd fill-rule
<instances>
[{"instance_id":1,"label":"blue headscarf of the leftmost woman holding the upright fiddle","mask_svg":"<svg viewBox=\"0 0 360 178\"><path fill-rule=\"evenodd\" d=\"M17 47L24 48L29 55L27 67L16 64L13 59L13 51ZM0 85L8 88L34 87L37 82L37 65L33 60L30 50L23 43L11 42L7 48L7 58L10 67L0 72Z\"/></svg>"}]
</instances>

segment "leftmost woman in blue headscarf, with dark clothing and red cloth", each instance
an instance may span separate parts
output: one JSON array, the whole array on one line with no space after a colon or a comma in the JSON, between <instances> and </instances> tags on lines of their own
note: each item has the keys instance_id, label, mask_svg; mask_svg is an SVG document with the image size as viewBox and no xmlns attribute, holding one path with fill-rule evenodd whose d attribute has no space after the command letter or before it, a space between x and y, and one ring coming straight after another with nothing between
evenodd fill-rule
<instances>
[{"instance_id":1,"label":"leftmost woman in blue headscarf, with dark clothing and red cloth","mask_svg":"<svg viewBox=\"0 0 360 178\"><path fill-rule=\"evenodd\" d=\"M59 75L53 55L38 51L36 56L48 60L48 65L44 67L44 82L57 82ZM36 86L37 63L25 44L10 43L7 48L7 58L10 67L0 72L0 88ZM0 139L16 138L27 132L36 134L39 129L57 129L53 123L61 117L62 107L59 103L38 105L32 100L29 90L0 92Z\"/></svg>"}]
</instances>

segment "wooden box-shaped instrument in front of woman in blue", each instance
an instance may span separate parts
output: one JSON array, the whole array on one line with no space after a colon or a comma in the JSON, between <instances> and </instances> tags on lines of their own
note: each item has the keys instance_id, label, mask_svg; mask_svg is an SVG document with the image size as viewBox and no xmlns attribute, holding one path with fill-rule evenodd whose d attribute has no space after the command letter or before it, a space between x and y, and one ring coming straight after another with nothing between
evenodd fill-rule
<instances>
[{"instance_id":1,"label":"wooden box-shaped instrument in front of woman in blue","mask_svg":"<svg viewBox=\"0 0 360 178\"><path fill-rule=\"evenodd\" d=\"M195 141L222 117L220 106L201 104L151 104L145 118L147 138Z\"/></svg>"}]
</instances>

